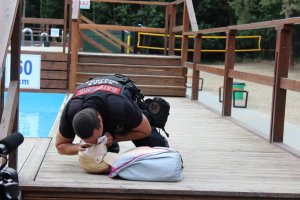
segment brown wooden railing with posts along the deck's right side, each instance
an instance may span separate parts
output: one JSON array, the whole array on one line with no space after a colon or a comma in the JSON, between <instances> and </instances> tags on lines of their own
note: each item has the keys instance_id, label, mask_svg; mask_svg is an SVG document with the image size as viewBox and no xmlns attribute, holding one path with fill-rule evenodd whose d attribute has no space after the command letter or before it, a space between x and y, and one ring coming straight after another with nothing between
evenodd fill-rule
<instances>
[{"instance_id":1,"label":"brown wooden railing with posts along the deck's right side","mask_svg":"<svg viewBox=\"0 0 300 200\"><path fill-rule=\"evenodd\" d=\"M188 0L185 1L185 11L190 12L191 5ZM288 90L300 92L300 81L288 78L288 69L291 54L292 44L292 30L295 24L300 23L300 17L288 18L283 20L265 21L259 23L242 24L235 26L211 28L204 30L188 31L188 26L193 27L193 20L187 19L192 15L184 14L183 25L183 40L182 40L182 63L185 68L192 69L192 94L191 99L198 99L199 76L200 72L204 71L215 75L224 77L223 85L223 105L222 115L231 116L232 109L232 85L233 79L240 79L244 81L254 82L261 85L268 85L273 87L272 97L272 114L271 114L271 129L270 142L283 142L284 135L284 115L286 106L286 93ZM193 16L192 16L193 17ZM255 73L248 73L237 71L234 69L235 64L235 36L238 31L254 30L262 28L275 28L276 51L275 51L275 71L274 76L266 76ZM213 66L206 66L201 64L201 44L202 36L205 34L226 33L226 53L225 66L220 69ZM193 62L187 62L187 42L188 36L195 36L194 39L194 56Z\"/></svg>"}]
</instances>

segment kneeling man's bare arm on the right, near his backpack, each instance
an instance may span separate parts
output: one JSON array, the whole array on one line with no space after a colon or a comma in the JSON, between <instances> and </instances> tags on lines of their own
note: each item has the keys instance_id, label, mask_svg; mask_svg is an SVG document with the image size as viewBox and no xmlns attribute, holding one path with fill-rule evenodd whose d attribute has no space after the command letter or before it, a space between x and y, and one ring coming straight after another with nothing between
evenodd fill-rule
<instances>
[{"instance_id":1,"label":"kneeling man's bare arm on the right, near his backpack","mask_svg":"<svg viewBox=\"0 0 300 200\"><path fill-rule=\"evenodd\" d=\"M114 135L117 142L138 140L151 135L151 125L148 119L143 114L143 119L140 125L130 130L126 135Z\"/></svg>"}]
</instances>

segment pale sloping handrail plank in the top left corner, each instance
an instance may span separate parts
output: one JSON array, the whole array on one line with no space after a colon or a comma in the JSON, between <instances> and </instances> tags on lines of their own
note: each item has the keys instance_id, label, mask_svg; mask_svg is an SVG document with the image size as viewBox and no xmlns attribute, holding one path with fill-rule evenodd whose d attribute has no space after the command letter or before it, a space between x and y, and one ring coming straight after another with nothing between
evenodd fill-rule
<instances>
[{"instance_id":1,"label":"pale sloping handrail plank in the top left corner","mask_svg":"<svg viewBox=\"0 0 300 200\"><path fill-rule=\"evenodd\" d=\"M4 71L3 66L6 58L6 51L11 37L18 5L19 0L9 0L0 6L0 65L2 71Z\"/></svg>"}]
</instances>

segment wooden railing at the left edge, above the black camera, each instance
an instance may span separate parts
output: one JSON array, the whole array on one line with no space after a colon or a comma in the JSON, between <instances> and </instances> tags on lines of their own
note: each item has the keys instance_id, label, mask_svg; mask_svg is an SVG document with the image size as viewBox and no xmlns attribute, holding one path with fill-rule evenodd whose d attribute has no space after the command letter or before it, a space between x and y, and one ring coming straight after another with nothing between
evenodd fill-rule
<instances>
[{"instance_id":1,"label":"wooden railing at the left edge, above the black camera","mask_svg":"<svg viewBox=\"0 0 300 200\"><path fill-rule=\"evenodd\" d=\"M0 64L2 67L0 140L18 131L21 8L20 0L10 0L0 6ZM9 44L11 45L11 75L4 107L5 70L3 66ZM8 165L17 168L17 151L10 153Z\"/></svg>"}]
</instances>

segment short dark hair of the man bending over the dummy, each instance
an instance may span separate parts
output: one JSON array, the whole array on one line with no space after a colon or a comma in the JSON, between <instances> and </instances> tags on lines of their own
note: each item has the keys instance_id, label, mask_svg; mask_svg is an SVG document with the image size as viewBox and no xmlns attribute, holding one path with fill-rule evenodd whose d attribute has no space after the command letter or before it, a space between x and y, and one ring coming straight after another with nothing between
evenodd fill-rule
<instances>
[{"instance_id":1,"label":"short dark hair of the man bending over the dummy","mask_svg":"<svg viewBox=\"0 0 300 200\"><path fill-rule=\"evenodd\" d=\"M79 111L72 122L75 134L81 139L91 137L94 129L100 127L98 115L99 113L93 108L85 108Z\"/></svg>"}]
</instances>

